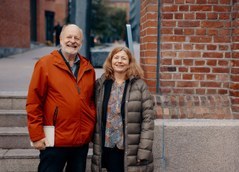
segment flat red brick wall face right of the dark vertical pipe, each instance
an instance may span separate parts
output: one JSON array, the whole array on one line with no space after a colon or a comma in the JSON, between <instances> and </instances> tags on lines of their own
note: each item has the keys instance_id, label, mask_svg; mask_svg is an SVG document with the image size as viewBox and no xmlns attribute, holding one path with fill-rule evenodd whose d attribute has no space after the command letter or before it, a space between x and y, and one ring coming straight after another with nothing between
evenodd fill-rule
<instances>
[{"instance_id":1,"label":"flat red brick wall face right of the dark vertical pipe","mask_svg":"<svg viewBox=\"0 0 239 172\"><path fill-rule=\"evenodd\" d=\"M161 2L162 93L228 94L230 1Z\"/></svg>"}]
</instances>

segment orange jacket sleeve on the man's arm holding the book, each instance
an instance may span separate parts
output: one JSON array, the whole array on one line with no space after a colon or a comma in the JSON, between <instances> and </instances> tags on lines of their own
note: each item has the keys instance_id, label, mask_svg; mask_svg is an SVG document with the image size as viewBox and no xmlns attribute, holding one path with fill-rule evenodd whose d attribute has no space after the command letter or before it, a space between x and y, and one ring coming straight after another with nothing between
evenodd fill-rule
<instances>
[{"instance_id":1,"label":"orange jacket sleeve on the man's arm holding the book","mask_svg":"<svg viewBox=\"0 0 239 172\"><path fill-rule=\"evenodd\" d=\"M30 139L35 142L45 137L43 132L43 102L47 90L47 72L39 60L32 74L28 89L26 110Z\"/></svg>"}]
</instances>

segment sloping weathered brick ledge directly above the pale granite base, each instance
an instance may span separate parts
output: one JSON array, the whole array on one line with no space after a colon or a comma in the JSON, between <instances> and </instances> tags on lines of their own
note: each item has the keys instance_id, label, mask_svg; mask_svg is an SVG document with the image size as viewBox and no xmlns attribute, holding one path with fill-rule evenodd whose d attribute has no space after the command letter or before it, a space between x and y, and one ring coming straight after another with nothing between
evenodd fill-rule
<instances>
[{"instance_id":1,"label":"sloping weathered brick ledge directly above the pale granite base","mask_svg":"<svg viewBox=\"0 0 239 172\"><path fill-rule=\"evenodd\" d=\"M160 119L233 119L228 95L154 95Z\"/></svg>"}]
</instances>

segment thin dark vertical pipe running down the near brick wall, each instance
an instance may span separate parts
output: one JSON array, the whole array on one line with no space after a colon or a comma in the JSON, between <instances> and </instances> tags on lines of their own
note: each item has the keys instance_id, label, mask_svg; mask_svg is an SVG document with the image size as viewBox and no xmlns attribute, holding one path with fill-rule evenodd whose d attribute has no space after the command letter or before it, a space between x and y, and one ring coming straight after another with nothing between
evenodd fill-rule
<instances>
[{"instance_id":1,"label":"thin dark vertical pipe running down the near brick wall","mask_svg":"<svg viewBox=\"0 0 239 172\"><path fill-rule=\"evenodd\" d=\"M160 87L160 0L158 0L158 35L157 35L157 68L156 68L156 93L159 94L159 87Z\"/></svg>"}]
</instances>

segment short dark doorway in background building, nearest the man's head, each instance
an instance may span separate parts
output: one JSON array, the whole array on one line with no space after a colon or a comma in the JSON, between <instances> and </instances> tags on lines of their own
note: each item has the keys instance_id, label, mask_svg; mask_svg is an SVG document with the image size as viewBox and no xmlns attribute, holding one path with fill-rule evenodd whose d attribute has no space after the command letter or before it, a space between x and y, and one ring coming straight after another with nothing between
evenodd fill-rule
<instances>
[{"instance_id":1,"label":"short dark doorway in background building, nearest the man's head","mask_svg":"<svg viewBox=\"0 0 239 172\"><path fill-rule=\"evenodd\" d=\"M54 15L52 11L45 11L46 41L53 43Z\"/></svg>"}]
</instances>

